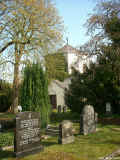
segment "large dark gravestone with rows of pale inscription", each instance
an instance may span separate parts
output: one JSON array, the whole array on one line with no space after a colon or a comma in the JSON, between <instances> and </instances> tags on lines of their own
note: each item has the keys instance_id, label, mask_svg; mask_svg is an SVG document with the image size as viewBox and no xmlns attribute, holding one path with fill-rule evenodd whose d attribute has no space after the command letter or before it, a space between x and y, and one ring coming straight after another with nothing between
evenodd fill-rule
<instances>
[{"instance_id":1,"label":"large dark gravestone with rows of pale inscription","mask_svg":"<svg viewBox=\"0 0 120 160\"><path fill-rule=\"evenodd\" d=\"M18 113L15 121L15 156L23 157L43 150L40 136L40 114L37 112Z\"/></svg>"}]
</instances>

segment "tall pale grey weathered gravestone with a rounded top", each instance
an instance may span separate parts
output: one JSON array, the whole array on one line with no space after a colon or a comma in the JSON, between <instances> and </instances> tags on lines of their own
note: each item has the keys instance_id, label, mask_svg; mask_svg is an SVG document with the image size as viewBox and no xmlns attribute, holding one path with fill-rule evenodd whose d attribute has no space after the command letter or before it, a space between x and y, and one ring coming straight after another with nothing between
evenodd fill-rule
<instances>
[{"instance_id":1,"label":"tall pale grey weathered gravestone with a rounded top","mask_svg":"<svg viewBox=\"0 0 120 160\"><path fill-rule=\"evenodd\" d=\"M87 135L96 131L97 113L91 105L86 105L80 115L80 133Z\"/></svg>"}]
</instances>

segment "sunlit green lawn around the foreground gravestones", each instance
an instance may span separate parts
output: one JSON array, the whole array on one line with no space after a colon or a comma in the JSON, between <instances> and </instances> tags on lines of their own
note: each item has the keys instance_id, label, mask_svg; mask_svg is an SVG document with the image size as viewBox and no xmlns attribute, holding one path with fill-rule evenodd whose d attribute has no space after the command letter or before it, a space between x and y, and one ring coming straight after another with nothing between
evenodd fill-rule
<instances>
[{"instance_id":1,"label":"sunlit green lawn around the foreground gravestones","mask_svg":"<svg viewBox=\"0 0 120 160\"><path fill-rule=\"evenodd\" d=\"M74 128L74 143L60 145L57 137L50 137L42 140L43 152L19 160L98 160L120 149L118 125L98 124L97 132L87 136L79 134L79 123L74 123ZM8 136L13 137L13 134L6 133L5 136L7 140ZM16 160L13 157L13 149L0 151L0 160Z\"/></svg>"}]
</instances>

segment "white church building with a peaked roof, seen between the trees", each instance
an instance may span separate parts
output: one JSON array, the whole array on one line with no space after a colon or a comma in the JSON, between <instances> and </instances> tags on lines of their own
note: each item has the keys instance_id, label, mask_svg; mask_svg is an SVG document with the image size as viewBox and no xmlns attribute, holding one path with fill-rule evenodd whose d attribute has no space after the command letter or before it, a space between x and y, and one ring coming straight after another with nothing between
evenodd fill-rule
<instances>
[{"instance_id":1,"label":"white church building with a peaked roof, seen between the trees","mask_svg":"<svg viewBox=\"0 0 120 160\"><path fill-rule=\"evenodd\" d=\"M80 73L83 73L85 66L89 67L90 59L87 58L87 54L80 52L76 48L73 48L67 44L61 48L59 52L63 53L65 56L65 60L67 62L67 72L69 74L72 73L72 68L75 68ZM65 91L69 88L70 83L71 77L65 79L64 82L53 80L50 83L48 92L52 108L57 108L59 105L65 106Z\"/></svg>"}]
</instances>

